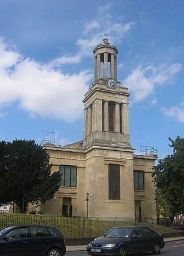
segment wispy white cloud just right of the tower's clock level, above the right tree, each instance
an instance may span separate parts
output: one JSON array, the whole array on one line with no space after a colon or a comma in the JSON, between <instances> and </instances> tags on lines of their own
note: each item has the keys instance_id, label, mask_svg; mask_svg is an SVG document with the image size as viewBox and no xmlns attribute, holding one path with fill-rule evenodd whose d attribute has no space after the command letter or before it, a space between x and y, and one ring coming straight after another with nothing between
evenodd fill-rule
<instances>
[{"instance_id":1,"label":"wispy white cloud just right of the tower's clock level, above the right tree","mask_svg":"<svg viewBox=\"0 0 184 256\"><path fill-rule=\"evenodd\" d=\"M145 100L155 94L155 87L163 86L174 81L175 75L182 70L179 63L170 66L162 64L159 67L137 67L124 81L123 85L128 87L132 94L132 102L136 103ZM154 104L156 103L154 99Z\"/></svg>"}]
</instances>

